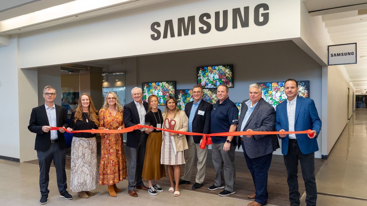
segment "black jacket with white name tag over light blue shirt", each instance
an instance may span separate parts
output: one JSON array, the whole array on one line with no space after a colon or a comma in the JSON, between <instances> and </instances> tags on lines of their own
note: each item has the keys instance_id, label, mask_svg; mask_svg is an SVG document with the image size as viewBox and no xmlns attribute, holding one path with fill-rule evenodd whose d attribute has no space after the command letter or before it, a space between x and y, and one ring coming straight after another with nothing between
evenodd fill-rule
<instances>
[{"instance_id":1,"label":"black jacket with white name tag over light blue shirt","mask_svg":"<svg viewBox=\"0 0 367 206\"><path fill-rule=\"evenodd\" d=\"M190 111L194 104L194 101L185 104L185 113L187 117L190 117ZM192 120L192 132L210 134L210 114L213 109L213 105L201 99L199 106L196 109L194 119ZM204 111L204 115L197 114L199 110ZM203 138L199 135L193 135L194 142L200 143ZM187 138L187 135L186 135Z\"/></svg>"}]
</instances>

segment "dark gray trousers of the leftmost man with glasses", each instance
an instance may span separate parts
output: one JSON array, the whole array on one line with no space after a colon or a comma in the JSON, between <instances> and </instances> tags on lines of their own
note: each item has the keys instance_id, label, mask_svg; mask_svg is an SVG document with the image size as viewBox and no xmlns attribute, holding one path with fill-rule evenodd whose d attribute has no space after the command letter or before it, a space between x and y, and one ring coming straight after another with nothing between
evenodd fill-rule
<instances>
[{"instance_id":1,"label":"dark gray trousers of the leftmost man with glasses","mask_svg":"<svg viewBox=\"0 0 367 206\"><path fill-rule=\"evenodd\" d=\"M50 177L50 166L52 160L56 169L57 187L60 193L66 191L66 172L65 172L65 149L59 147L59 143L51 143L45 151L37 150L38 163L40 165L40 192L41 195L48 195L48 181Z\"/></svg>"}]
</instances>

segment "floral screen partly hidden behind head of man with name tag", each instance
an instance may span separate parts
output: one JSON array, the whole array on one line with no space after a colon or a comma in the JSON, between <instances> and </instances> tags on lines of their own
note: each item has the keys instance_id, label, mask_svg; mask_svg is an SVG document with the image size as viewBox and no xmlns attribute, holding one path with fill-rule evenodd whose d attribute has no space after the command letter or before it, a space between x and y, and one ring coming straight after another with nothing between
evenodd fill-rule
<instances>
[{"instance_id":1,"label":"floral screen partly hidden behind head of man with name tag","mask_svg":"<svg viewBox=\"0 0 367 206\"><path fill-rule=\"evenodd\" d=\"M192 89L176 90L177 106L180 110L185 110L185 104L194 100ZM215 104L218 100L217 89L203 89L203 100Z\"/></svg>"}]
</instances>

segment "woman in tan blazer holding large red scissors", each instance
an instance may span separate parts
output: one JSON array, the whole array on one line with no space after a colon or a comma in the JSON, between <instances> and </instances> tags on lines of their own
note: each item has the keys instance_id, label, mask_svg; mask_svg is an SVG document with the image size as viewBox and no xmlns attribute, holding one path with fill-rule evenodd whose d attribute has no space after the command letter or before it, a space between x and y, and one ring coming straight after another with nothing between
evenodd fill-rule
<instances>
[{"instance_id":1,"label":"woman in tan blazer holding large red scissors","mask_svg":"<svg viewBox=\"0 0 367 206\"><path fill-rule=\"evenodd\" d=\"M162 113L163 119L168 118L170 121L164 121L163 128L169 129L169 124L172 120L175 120L176 124L174 130L187 132L189 129L189 119L184 111L181 111L177 107L177 101L174 97L169 96L166 99L165 110ZM170 178L171 187L168 192L174 192L174 196L179 196L178 183L181 175L180 165L185 164L185 158L183 150L188 149L186 136L172 132L162 132L162 147L161 147L161 159L160 163L167 165L167 173ZM174 139L174 145L177 153L175 154L171 136ZM173 179L175 179L176 185L174 187Z\"/></svg>"}]
</instances>

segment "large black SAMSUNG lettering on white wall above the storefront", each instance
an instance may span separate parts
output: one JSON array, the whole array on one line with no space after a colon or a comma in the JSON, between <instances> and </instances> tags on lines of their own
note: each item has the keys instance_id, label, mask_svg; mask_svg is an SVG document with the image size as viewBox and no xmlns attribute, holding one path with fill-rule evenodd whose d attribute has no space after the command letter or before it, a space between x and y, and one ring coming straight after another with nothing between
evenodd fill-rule
<instances>
[{"instance_id":1,"label":"large black SAMSUNG lettering on white wall above the storefront","mask_svg":"<svg viewBox=\"0 0 367 206\"><path fill-rule=\"evenodd\" d=\"M269 22L269 12L265 12L269 10L269 5L262 3L258 4L254 8L254 23L257 26L264 26ZM243 14L242 14L243 11ZM263 11L260 13L260 11ZM222 13L222 14L221 14ZM195 16L188 16L187 22L185 17L177 19L177 30L173 26L173 19L166 20L164 22L164 29L163 29L163 38L168 37L168 30L170 31L170 37L182 36L182 32L184 36L188 36L189 33L191 35L196 33L196 26L195 26ZM211 19L210 13L203 13L199 16L199 22L203 26L199 26L199 32L202 34L209 33L211 31L211 23L207 21L207 19ZM232 9L232 29L237 29L237 20L239 20L241 28L248 27L250 19L250 7L243 7L241 8L233 8ZM221 21L222 20L222 21ZM214 27L215 30L218 32L222 32L227 29L228 27L228 10L224 10L222 12L215 11L214 12ZM222 25L222 26L221 26ZM160 22L153 22L150 25L150 30L154 32L154 34L150 34L150 38L152 40L159 40L161 38L161 23Z\"/></svg>"}]
</instances>

